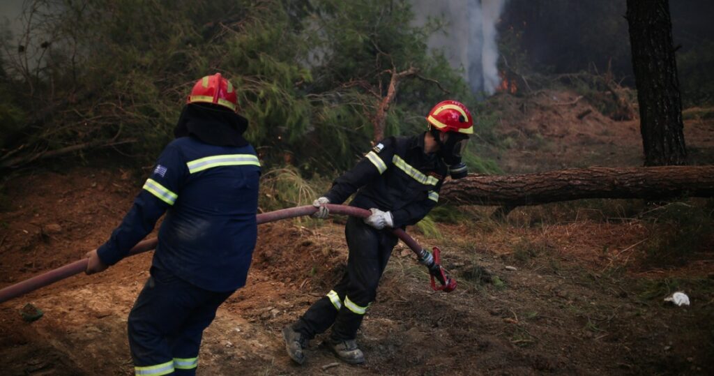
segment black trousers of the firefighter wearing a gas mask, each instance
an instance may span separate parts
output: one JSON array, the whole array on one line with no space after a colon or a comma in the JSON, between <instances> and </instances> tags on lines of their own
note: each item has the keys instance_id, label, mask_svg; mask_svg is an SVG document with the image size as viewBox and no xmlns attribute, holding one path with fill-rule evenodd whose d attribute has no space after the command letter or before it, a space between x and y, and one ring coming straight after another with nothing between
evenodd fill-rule
<instances>
[{"instance_id":1,"label":"black trousers of the firefighter wearing a gas mask","mask_svg":"<svg viewBox=\"0 0 714 376\"><path fill-rule=\"evenodd\" d=\"M379 279L398 239L388 229L377 230L350 217L345 227L349 256L340 282L315 302L293 325L313 338L332 327L334 341L354 340L367 307L377 296Z\"/></svg>"}]
</instances>

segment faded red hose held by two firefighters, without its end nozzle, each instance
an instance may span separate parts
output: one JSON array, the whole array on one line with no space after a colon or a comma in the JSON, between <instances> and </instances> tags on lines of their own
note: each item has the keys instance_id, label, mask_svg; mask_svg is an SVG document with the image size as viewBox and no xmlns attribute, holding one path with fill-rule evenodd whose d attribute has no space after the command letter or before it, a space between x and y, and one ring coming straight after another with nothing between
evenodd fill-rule
<instances>
[{"instance_id":1,"label":"faded red hose held by two firefighters, without its end nozzle","mask_svg":"<svg viewBox=\"0 0 714 376\"><path fill-rule=\"evenodd\" d=\"M360 218L366 218L371 214L369 210L361 209L358 207L349 207L346 205L328 204L327 207L330 210L330 214L346 214L352 217ZM294 217L301 217L304 215L310 215L316 211L316 207L313 207L312 205L306 205L303 207L293 207L290 209L276 210L275 212L261 213L256 216L256 219L258 220L258 224L263 224L268 222L275 222L280 219L288 219ZM416 240L414 240L406 232L404 232L403 229L393 229L392 231L399 239L404 242L404 244L406 244L409 248L411 248L411 250L413 250L417 254L417 257L419 257L420 259L424 257L426 251L416 242ZM131 251L129 251L129 256L155 249L156 244L159 244L158 238L142 240L141 242L139 242L139 244L136 244L136 246L132 248ZM61 279L71 277L74 274L84 272L87 267L87 262L88 259L86 258L80 259L70 264L66 264L64 265L64 267L52 269L44 274L40 274L36 277L26 279L22 282L18 282L15 285L5 287L4 289L0 290L0 303L6 302L7 300L11 300L14 297L19 297L20 295L24 295L28 292L37 290L40 287L51 285L52 283L57 282ZM436 266L438 267L438 265ZM440 278L439 282L441 282L442 285L447 285L447 277L443 279L444 280L441 280Z\"/></svg>"}]
</instances>

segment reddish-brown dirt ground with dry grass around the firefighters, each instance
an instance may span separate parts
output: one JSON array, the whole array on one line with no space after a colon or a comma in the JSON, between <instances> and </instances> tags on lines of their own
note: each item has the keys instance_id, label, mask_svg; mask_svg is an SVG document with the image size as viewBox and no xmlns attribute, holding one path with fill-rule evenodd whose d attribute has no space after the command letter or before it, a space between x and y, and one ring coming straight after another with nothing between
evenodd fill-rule
<instances>
[{"instance_id":1,"label":"reddish-brown dirt ground with dry grass around the firefighters","mask_svg":"<svg viewBox=\"0 0 714 376\"><path fill-rule=\"evenodd\" d=\"M557 95L538 100L576 98ZM581 102L543 104L500 129L513 138L499 161L504 171L641 164L637 122L597 113L574 122L587 106ZM711 163L714 123L688 120L685 137L694 157ZM0 287L102 244L140 188L141 179L106 167L10 179L0 212ZM710 200L684 204L714 209ZM648 239L666 229L630 215L642 211L638 205L549 204L516 209L506 222L489 219L493 208L473 207L429 237L409 227L424 247L441 247L458 289L431 291L426 270L398 244L358 335L367 358L359 366L337 362L318 337L298 367L281 340L281 328L337 281L347 254L344 220L261 225L248 285L206 330L198 374L712 375L714 231L704 229L705 241L677 264L648 263ZM133 374L126 317L150 262L147 252L1 303L1 373ZM689 295L689 307L663 301L675 290ZM19 314L26 304L44 315L26 322Z\"/></svg>"}]
</instances>

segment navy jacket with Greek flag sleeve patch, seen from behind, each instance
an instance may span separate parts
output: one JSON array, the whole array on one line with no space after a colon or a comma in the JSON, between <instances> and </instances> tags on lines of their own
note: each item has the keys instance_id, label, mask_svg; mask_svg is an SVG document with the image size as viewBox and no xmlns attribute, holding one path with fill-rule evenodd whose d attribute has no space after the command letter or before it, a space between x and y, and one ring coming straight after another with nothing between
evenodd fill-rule
<instances>
[{"instance_id":1,"label":"navy jacket with Greek flag sleeve patch, seen from behind","mask_svg":"<svg viewBox=\"0 0 714 376\"><path fill-rule=\"evenodd\" d=\"M99 247L99 258L105 264L118 262L168 209L152 267L205 290L242 287L256 245L260 174L250 145L218 147L192 137L175 139L124 220Z\"/></svg>"}]
</instances>

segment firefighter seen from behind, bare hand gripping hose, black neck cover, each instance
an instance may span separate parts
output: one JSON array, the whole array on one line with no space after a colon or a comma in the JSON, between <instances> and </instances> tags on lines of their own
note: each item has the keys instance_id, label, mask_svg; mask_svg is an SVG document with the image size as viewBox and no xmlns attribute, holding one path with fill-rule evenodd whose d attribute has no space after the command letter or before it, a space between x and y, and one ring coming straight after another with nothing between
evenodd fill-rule
<instances>
[{"instance_id":1,"label":"firefighter seen from behind, bare hand gripping hose, black neck cover","mask_svg":"<svg viewBox=\"0 0 714 376\"><path fill-rule=\"evenodd\" d=\"M126 257L166 212L151 277L129 313L136 375L195 375L203 330L246 284L256 245L260 163L221 74L193 86L171 142L87 274Z\"/></svg>"}]
</instances>

